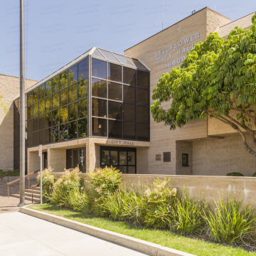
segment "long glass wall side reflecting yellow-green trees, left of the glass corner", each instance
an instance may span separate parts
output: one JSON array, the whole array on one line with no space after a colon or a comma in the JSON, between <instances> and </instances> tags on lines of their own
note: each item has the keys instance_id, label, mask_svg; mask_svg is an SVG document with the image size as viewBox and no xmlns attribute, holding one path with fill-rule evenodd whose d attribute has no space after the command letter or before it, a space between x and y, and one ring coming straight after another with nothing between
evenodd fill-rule
<instances>
[{"instance_id":1,"label":"long glass wall side reflecting yellow-green trees, left of the glass corner","mask_svg":"<svg viewBox=\"0 0 256 256\"><path fill-rule=\"evenodd\" d=\"M87 137L87 58L28 92L28 147Z\"/></svg>"}]
</instances>

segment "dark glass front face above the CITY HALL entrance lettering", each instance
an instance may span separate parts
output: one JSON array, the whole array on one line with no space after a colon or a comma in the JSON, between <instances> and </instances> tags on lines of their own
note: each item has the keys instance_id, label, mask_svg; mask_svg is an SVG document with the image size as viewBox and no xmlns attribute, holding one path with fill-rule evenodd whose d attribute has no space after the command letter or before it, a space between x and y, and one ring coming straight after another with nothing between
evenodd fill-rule
<instances>
[{"instance_id":1,"label":"dark glass front face above the CITY HALL entrance lettering","mask_svg":"<svg viewBox=\"0 0 256 256\"><path fill-rule=\"evenodd\" d=\"M91 70L92 136L149 141L149 72L93 57Z\"/></svg>"}]
</instances>

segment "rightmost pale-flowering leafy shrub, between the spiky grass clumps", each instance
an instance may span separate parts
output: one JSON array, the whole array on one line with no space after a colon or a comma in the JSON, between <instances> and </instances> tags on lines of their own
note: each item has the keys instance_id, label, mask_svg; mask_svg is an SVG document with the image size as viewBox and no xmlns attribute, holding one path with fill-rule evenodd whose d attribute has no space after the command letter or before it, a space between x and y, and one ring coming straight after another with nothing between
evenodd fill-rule
<instances>
[{"instance_id":1,"label":"rightmost pale-flowering leafy shrub, between the spiky grass clumps","mask_svg":"<svg viewBox=\"0 0 256 256\"><path fill-rule=\"evenodd\" d=\"M162 181L157 178L153 182L153 188L148 188L144 192L146 200L146 215L144 222L149 227L167 228L165 218L171 212L174 204L174 197L177 189L166 186L170 179Z\"/></svg>"}]
</instances>

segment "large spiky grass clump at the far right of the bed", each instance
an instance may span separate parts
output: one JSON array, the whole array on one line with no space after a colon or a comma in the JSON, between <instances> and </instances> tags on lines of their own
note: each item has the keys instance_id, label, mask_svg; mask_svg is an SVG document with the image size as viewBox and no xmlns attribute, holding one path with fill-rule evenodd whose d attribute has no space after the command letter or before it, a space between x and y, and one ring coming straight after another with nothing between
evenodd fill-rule
<instances>
[{"instance_id":1,"label":"large spiky grass clump at the far right of the bed","mask_svg":"<svg viewBox=\"0 0 256 256\"><path fill-rule=\"evenodd\" d=\"M255 235L256 216L254 210L243 201L230 196L213 201L215 206L209 215L205 215L208 233L217 242L242 242Z\"/></svg>"}]
</instances>

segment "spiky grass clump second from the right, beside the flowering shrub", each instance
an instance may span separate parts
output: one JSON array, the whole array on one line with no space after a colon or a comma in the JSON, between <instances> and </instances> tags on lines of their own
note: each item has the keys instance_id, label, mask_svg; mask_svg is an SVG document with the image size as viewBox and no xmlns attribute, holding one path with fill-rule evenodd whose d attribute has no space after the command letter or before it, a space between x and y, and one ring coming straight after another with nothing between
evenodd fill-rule
<instances>
[{"instance_id":1,"label":"spiky grass clump second from the right, beside the flowering shrub","mask_svg":"<svg viewBox=\"0 0 256 256\"><path fill-rule=\"evenodd\" d=\"M171 229L181 235L198 234L206 225L203 210L208 215L209 205L206 200L189 197L188 190L184 188L183 195L176 197L171 215L166 221L169 222Z\"/></svg>"}]
</instances>

